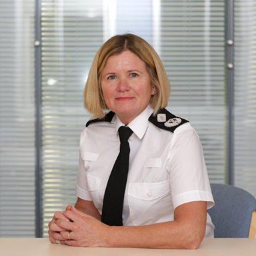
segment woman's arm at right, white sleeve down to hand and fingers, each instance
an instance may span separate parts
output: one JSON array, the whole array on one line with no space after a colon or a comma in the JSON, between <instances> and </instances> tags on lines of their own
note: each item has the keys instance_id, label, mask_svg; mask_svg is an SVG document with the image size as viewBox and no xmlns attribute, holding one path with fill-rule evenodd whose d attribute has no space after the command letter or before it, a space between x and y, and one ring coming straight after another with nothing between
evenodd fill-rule
<instances>
[{"instance_id":1,"label":"woman's arm at right, white sleeve down to hand and fingers","mask_svg":"<svg viewBox=\"0 0 256 256\"><path fill-rule=\"evenodd\" d=\"M207 187L201 144L195 135L191 139L190 134L181 137L169 161L174 221L139 227L109 227L72 208L63 214L73 222L57 222L59 227L71 230L72 241L67 241L67 232L61 232L65 243L81 247L198 248L205 236L207 202L213 200ZM190 197L193 195L190 202L185 196L187 192ZM85 199L91 201L89 197Z\"/></svg>"}]
</instances>

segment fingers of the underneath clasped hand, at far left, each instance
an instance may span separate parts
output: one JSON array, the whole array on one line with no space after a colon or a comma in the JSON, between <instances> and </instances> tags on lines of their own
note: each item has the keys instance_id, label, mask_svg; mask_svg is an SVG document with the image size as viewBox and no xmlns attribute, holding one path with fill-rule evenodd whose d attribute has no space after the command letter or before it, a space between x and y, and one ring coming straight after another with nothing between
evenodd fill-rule
<instances>
[{"instance_id":1,"label":"fingers of the underneath clasped hand, at far left","mask_svg":"<svg viewBox=\"0 0 256 256\"><path fill-rule=\"evenodd\" d=\"M71 205L67 206L66 209L70 209ZM59 240L62 244L65 245L65 241L63 239L63 237L61 237L61 231L69 231L67 229L64 229L63 227L59 227L56 224L56 221L58 219L62 219L63 221L69 222L70 220L65 217L60 211L57 211L54 215L53 215L53 219L49 222L48 227L49 227L49 240L51 241L51 243L56 243L56 240Z\"/></svg>"}]
</instances>

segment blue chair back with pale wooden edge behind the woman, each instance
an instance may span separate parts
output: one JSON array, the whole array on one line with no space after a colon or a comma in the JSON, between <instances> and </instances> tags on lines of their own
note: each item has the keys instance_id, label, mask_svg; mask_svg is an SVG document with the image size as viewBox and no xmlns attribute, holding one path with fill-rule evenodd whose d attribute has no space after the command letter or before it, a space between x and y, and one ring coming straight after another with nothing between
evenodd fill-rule
<instances>
[{"instance_id":1,"label":"blue chair back with pale wooden edge behind the woman","mask_svg":"<svg viewBox=\"0 0 256 256\"><path fill-rule=\"evenodd\" d=\"M256 238L256 199L239 187L211 184L215 206L208 210L214 237Z\"/></svg>"}]
</instances>

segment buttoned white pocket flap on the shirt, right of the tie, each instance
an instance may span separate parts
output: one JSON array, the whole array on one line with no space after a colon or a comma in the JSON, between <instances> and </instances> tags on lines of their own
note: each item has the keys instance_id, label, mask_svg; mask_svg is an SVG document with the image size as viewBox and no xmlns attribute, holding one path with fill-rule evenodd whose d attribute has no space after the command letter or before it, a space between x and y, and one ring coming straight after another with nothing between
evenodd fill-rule
<instances>
[{"instance_id":1,"label":"buttoned white pocket flap on the shirt, right of the tie","mask_svg":"<svg viewBox=\"0 0 256 256\"><path fill-rule=\"evenodd\" d=\"M156 183L129 183L127 195L135 199L152 201L171 193L169 179Z\"/></svg>"}]
</instances>

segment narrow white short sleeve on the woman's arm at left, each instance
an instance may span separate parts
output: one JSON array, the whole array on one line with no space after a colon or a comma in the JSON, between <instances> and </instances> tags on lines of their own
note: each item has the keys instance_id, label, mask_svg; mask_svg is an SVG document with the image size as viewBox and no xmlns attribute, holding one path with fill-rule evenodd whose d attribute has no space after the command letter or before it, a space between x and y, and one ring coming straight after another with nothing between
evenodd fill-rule
<instances>
[{"instance_id":1,"label":"narrow white short sleeve on the woman's arm at left","mask_svg":"<svg viewBox=\"0 0 256 256\"><path fill-rule=\"evenodd\" d=\"M93 201L91 198L91 194L87 189L87 177L86 177L86 170L84 161L81 157L81 142L85 139L85 129L81 133L80 137L80 150L79 150L79 164L78 164L78 171L77 171L77 182L76 182L76 195L77 197L87 200Z\"/></svg>"}]
</instances>

